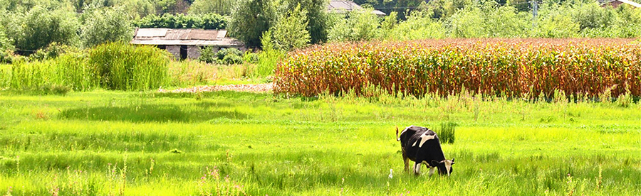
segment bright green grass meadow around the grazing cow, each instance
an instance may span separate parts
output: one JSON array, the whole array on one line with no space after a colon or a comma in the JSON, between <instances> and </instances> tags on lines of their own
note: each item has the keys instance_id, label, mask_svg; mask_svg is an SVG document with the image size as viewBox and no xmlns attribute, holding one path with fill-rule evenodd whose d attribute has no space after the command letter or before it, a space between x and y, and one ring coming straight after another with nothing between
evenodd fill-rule
<instances>
[{"instance_id":1,"label":"bright green grass meadow around the grazing cow","mask_svg":"<svg viewBox=\"0 0 641 196\"><path fill-rule=\"evenodd\" d=\"M395 126L443 122L452 176L403 173ZM616 102L0 90L0 195L641 195L640 131Z\"/></svg>"}]
</instances>

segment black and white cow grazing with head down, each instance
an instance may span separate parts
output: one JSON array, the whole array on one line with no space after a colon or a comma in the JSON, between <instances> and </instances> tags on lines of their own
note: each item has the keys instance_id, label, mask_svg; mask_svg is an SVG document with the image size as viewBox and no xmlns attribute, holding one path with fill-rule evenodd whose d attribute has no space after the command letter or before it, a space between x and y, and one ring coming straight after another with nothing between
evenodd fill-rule
<instances>
[{"instance_id":1,"label":"black and white cow grazing with head down","mask_svg":"<svg viewBox=\"0 0 641 196\"><path fill-rule=\"evenodd\" d=\"M434 168L438 168L440 175L452 173L452 160L445 159L439 137L434 131L421 126L407 126L398 134L396 128L396 140L401 142L405 171L410 170L410 160L415 162L414 173L419 175L421 164L429 168L429 175L434 174Z\"/></svg>"}]
</instances>

